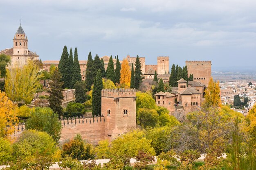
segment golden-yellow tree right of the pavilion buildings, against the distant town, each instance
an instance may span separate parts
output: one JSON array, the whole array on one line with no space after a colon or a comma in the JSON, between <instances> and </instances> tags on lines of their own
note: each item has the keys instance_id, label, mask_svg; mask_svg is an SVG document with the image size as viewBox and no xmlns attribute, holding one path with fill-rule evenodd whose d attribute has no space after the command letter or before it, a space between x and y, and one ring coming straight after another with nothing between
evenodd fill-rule
<instances>
[{"instance_id":1,"label":"golden-yellow tree right of the pavilion buildings, against the distant town","mask_svg":"<svg viewBox=\"0 0 256 170\"><path fill-rule=\"evenodd\" d=\"M211 77L207 89L204 91L204 102L202 103L202 107L209 108L209 107L220 107L221 100L220 100L220 86L219 81L214 82L213 78Z\"/></svg>"}]
</instances>

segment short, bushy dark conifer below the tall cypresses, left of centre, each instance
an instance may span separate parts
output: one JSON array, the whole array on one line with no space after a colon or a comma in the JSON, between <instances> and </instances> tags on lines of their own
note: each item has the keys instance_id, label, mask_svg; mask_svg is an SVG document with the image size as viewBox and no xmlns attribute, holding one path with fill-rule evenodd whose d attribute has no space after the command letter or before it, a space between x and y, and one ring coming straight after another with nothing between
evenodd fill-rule
<instances>
[{"instance_id":1,"label":"short, bushy dark conifer below the tall cypresses, left of centre","mask_svg":"<svg viewBox=\"0 0 256 170\"><path fill-rule=\"evenodd\" d=\"M77 81L75 84L75 102L84 103L86 101L86 85L83 81Z\"/></svg>"}]
</instances>

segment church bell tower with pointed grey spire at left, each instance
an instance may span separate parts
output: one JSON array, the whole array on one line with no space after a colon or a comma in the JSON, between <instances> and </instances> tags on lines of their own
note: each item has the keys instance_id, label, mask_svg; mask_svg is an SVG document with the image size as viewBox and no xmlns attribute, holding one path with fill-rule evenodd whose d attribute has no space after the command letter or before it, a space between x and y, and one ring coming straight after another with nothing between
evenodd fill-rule
<instances>
[{"instance_id":1,"label":"church bell tower with pointed grey spire at left","mask_svg":"<svg viewBox=\"0 0 256 170\"><path fill-rule=\"evenodd\" d=\"M13 39L13 55L28 55L27 37L21 24Z\"/></svg>"}]
</instances>

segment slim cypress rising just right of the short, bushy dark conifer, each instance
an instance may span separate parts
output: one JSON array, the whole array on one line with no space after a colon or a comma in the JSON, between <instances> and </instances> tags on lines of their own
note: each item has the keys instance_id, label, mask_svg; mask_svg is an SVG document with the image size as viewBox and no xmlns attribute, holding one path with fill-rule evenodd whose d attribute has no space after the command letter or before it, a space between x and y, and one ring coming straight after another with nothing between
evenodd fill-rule
<instances>
[{"instance_id":1,"label":"slim cypress rising just right of the short, bushy dark conifer","mask_svg":"<svg viewBox=\"0 0 256 170\"><path fill-rule=\"evenodd\" d=\"M94 77L93 77L93 60L92 60L92 53L89 52L88 54L88 60L86 64L86 70L85 70L85 83L86 83L86 89L90 91L92 83L93 83Z\"/></svg>"}]
</instances>

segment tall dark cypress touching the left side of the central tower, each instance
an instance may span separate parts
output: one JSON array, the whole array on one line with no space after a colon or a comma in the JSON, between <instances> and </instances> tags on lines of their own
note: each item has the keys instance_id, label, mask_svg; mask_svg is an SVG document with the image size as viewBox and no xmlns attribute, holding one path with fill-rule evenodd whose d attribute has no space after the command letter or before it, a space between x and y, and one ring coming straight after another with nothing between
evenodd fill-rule
<instances>
[{"instance_id":1,"label":"tall dark cypress touching the left side of the central tower","mask_svg":"<svg viewBox=\"0 0 256 170\"><path fill-rule=\"evenodd\" d=\"M98 70L92 89L92 116L101 116L101 89L103 89L101 70Z\"/></svg>"}]
</instances>

